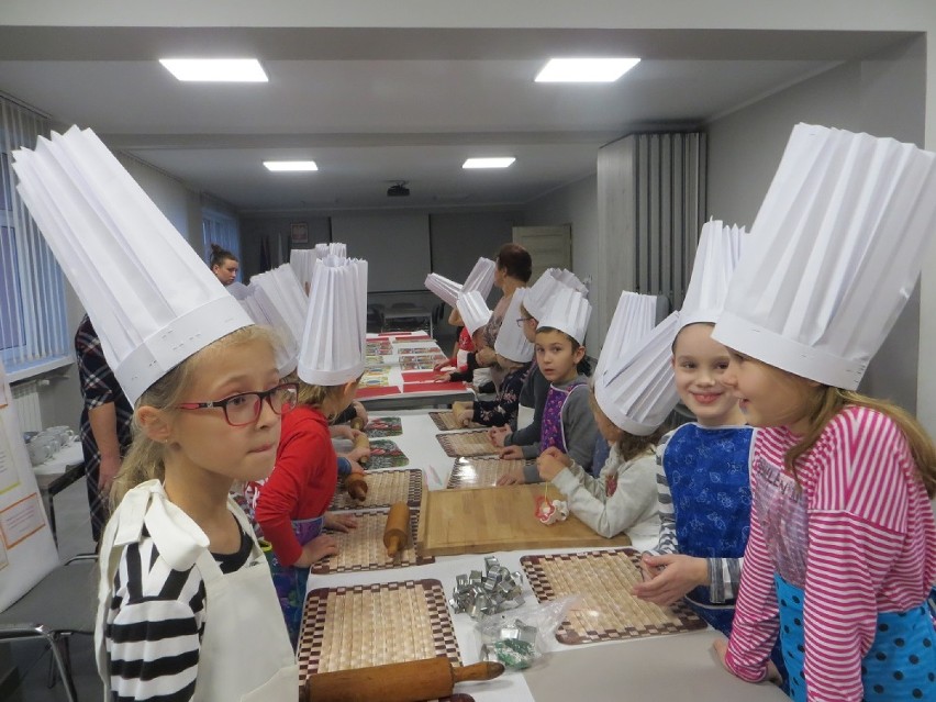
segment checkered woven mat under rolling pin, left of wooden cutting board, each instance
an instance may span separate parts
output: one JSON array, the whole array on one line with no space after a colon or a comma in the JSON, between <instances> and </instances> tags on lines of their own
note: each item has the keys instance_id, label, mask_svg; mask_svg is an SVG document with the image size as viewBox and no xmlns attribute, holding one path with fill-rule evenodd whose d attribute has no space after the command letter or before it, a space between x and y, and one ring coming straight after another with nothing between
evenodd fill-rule
<instances>
[{"instance_id":1,"label":"checkered woven mat under rolling pin, left of wooden cutting board","mask_svg":"<svg viewBox=\"0 0 936 702\"><path fill-rule=\"evenodd\" d=\"M416 526L420 522L417 510L410 512L410 546L399 554L397 560L387 556L387 547L383 546L383 528L387 526L388 513L389 510L355 512L357 528L349 532L331 532L332 538L337 542L338 553L312 566L312 572L315 575L356 572L435 562L432 556L416 555Z\"/></svg>"}]
</instances>

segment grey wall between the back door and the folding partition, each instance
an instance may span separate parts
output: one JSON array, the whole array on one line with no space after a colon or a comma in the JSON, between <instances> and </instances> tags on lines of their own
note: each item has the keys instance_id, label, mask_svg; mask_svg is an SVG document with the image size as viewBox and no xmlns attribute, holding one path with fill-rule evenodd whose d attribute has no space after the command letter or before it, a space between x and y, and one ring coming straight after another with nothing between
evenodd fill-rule
<instances>
[{"instance_id":1,"label":"grey wall between the back door and the folding partition","mask_svg":"<svg viewBox=\"0 0 936 702\"><path fill-rule=\"evenodd\" d=\"M595 159L598 154L595 153ZM572 227L572 272L580 279L595 279L598 275L598 175L591 174L564 188L553 190L532 200L523 211L526 226L570 224ZM588 339L597 339L598 315L592 314L588 325ZM598 357L601 349L589 346L590 356Z\"/></svg>"}]
</instances>

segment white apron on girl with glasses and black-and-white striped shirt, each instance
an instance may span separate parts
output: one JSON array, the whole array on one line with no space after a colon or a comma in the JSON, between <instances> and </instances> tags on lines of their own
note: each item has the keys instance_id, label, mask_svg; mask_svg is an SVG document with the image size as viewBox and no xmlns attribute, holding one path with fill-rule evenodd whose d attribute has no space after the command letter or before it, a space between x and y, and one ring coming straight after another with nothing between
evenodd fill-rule
<instances>
[{"instance_id":1,"label":"white apron on girl with glasses and black-and-white striped shirt","mask_svg":"<svg viewBox=\"0 0 936 702\"><path fill-rule=\"evenodd\" d=\"M246 516L230 498L229 509L253 538ZM249 565L224 575L208 550L208 536L169 501L158 480L149 480L127 492L101 537L102 575L94 646L104 700L111 695L103 631L113 578L124 547L140 541L144 524L159 555L171 568L186 570L197 565L204 580L205 626L192 700L297 702L299 666L266 556L256 538Z\"/></svg>"}]
</instances>

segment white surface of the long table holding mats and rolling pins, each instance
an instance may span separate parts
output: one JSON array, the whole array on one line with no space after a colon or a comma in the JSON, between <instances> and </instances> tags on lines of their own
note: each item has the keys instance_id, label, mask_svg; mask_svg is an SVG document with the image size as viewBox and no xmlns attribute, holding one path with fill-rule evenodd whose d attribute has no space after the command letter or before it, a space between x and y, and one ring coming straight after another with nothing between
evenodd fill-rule
<instances>
[{"instance_id":1,"label":"white surface of the long table holding mats and rolling pins","mask_svg":"<svg viewBox=\"0 0 936 702\"><path fill-rule=\"evenodd\" d=\"M403 434L390 437L410 458L410 467L423 469L430 490L443 489L454 459L446 456L435 438L438 433L425 410L394 412L401 416ZM537 554L575 553L581 549L537 549ZM509 570L520 569L527 551L493 554ZM366 586L403 580L436 579L447 597L456 576L483 571L484 556L437 557L434 564L376 570L312 575L309 589ZM524 583L524 598L535 595ZM509 613L508 613L509 614ZM475 621L468 614L452 614L464 665L479 660L480 640ZM567 702L578 700L689 700L693 702L780 702L785 695L770 684L753 686L734 678L711 651L722 635L711 628L615 643L566 646L547 637L542 658L525 672L508 671L488 682L464 683L457 692L477 702ZM572 697L575 695L575 697Z\"/></svg>"}]
</instances>

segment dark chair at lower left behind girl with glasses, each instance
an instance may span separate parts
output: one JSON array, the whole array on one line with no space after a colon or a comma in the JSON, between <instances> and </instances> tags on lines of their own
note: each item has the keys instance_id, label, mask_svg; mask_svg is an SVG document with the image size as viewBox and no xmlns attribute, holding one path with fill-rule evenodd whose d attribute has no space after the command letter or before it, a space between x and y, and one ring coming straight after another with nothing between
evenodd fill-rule
<instances>
[{"instance_id":1,"label":"dark chair at lower left behind girl with glasses","mask_svg":"<svg viewBox=\"0 0 936 702\"><path fill-rule=\"evenodd\" d=\"M69 702L78 694L71 678L68 637L94 633L98 557L75 556L0 612L0 643L43 638L65 684Z\"/></svg>"}]
</instances>

